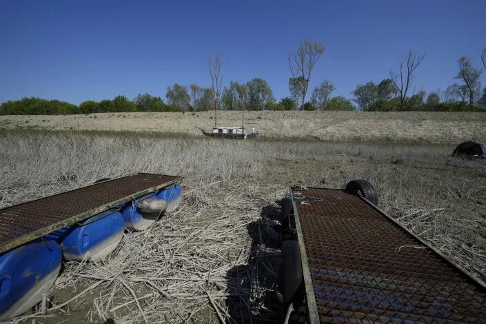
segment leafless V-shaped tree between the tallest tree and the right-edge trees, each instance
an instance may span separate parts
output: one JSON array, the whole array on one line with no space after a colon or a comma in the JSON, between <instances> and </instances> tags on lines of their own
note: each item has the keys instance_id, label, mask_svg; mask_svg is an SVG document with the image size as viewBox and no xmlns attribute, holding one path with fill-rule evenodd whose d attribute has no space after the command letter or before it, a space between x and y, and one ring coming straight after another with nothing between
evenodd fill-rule
<instances>
[{"instance_id":1,"label":"leafless V-shaped tree between the tallest tree and the right-edge trees","mask_svg":"<svg viewBox=\"0 0 486 324\"><path fill-rule=\"evenodd\" d=\"M403 110L407 92L414 79L414 72L421 65L424 57L425 52L422 55L417 55L416 52L409 50L408 54L403 55L402 61L398 64L398 73L394 73L392 70L389 72L389 76L396 90L398 90L398 94L400 94L400 110Z\"/></svg>"}]
</instances>

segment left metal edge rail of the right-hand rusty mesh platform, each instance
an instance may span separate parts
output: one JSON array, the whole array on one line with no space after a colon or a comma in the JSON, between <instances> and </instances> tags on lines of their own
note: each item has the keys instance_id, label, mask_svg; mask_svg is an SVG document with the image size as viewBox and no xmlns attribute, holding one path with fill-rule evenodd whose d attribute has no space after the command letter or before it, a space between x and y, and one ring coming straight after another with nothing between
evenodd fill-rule
<instances>
[{"instance_id":1,"label":"left metal edge rail of the right-hand rusty mesh platform","mask_svg":"<svg viewBox=\"0 0 486 324\"><path fill-rule=\"evenodd\" d=\"M310 324L314 324L314 323L317 324L320 323L320 321L319 321L319 315L317 311L316 297L314 295L314 287L312 287L312 279L310 277L309 262L307 261L307 253L305 253L305 245L304 245L304 238L301 229L301 221L298 218L297 205L294 200L294 194L292 192L292 188L289 188L289 192L292 196L292 208L294 212L295 226L297 231L298 249L301 252L302 275L304 278L305 295L306 295L305 300L307 301L307 318L309 319Z\"/></svg>"}]
</instances>

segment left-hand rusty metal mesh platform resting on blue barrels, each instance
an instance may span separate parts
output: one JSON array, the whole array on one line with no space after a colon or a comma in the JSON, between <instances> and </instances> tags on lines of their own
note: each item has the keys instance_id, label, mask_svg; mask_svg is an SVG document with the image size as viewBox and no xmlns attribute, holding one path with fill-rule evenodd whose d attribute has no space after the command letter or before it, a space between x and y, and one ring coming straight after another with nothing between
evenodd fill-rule
<instances>
[{"instance_id":1,"label":"left-hand rusty metal mesh platform resting on blue barrels","mask_svg":"<svg viewBox=\"0 0 486 324\"><path fill-rule=\"evenodd\" d=\"M180 176L138 173L3 208L0 253L179 179Z\"/></svg>"}]
</instances>

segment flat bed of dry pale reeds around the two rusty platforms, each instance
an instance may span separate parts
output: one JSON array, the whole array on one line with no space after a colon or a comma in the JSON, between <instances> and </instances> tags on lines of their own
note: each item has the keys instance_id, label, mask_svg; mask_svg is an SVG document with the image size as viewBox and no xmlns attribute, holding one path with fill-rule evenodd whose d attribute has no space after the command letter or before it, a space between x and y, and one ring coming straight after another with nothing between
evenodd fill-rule
<instances>
[{"instance_id":1,"label":"flat bed of dry pale reeds around the two rusty platforms","mask_svg":"<svg viewBox=\"0 0 486 324\"><path fill-rule=\"evenodd\" d=\"M2 206L133 172L183 175L185 191L212 184L186 194L179 210L148 231L125 234L108 260L67 263L50 294L54 303L97 287L42 323L242 322L267 312L279 254L262 220L278 214L274 199L296 183L342 187L368 179L385 211L486 278L486 166L450 157L451 145L1 135Z\"/></svg>"}]
</instances>

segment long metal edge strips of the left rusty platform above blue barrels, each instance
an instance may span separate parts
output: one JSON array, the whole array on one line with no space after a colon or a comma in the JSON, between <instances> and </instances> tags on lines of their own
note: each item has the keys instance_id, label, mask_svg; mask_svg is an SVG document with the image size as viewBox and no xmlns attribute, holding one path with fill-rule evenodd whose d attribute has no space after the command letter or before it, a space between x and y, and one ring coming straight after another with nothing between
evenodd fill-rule
<instances>
[{"instance_id":1,"label":"long metal edge strips of the left rusty platform above blue barrels","mask_svg":"<svg viewBox=\"0 0 486 324\"><path fill-rule=\"evenodd\" d=\"M148 174L148 173L139 173L139 174ZM133 175L134 174L129 174L128 176L133 176ZM160 174L155 174L155 175L160 175ZM121 178L125 178L125 176L122 176ZM117 178L117 179L120 179L120 178ZM39 230L30 232L30 233L22 235L22 236L19 236L19 238L15 239L14 241L10 241L10 242L1 244L0 245L0 253L3 253L5 251L10 250L14 247L17 247L19 245L22 245L23 243L27 243L27 242L32 241L34 239L38 239L39 237L41 237L45 234L49 234L50 232L53 232L54 230L59 230L62 227L72 225L73 223L76 223L77 221L82 221L83 219L87 219L90 216L94 216L94 215L99 214L101 212L105 212L106 210L109 210L110 208L112 208L114 206L120 205L121 203L126 203L128 201L131 201L132 199L135 199L138 196L143 196L144 194L148 194L148 193L150 193L154 190L159 190L161 188L167 187L168 185L172 185L172 183L179 183L179 181L181 181L181 179L182 179L182 177L179 177L177 179L174 179L174 180L171 180L171 181L168 181L168 182L165 182L165 183L161 183L160 185L157 185L156 187L148 188L148 189L145 189L141 192L136 192L135 194L132 194L131 196L125 196L121 199L118 199L117 201L112 201L112 202L107 203L105 205L101 205L100 207L94 208L93 210L88 210L88 212L83 212L81 214L77 214L76 216L72 216L68 219L63 219L63 221L59 221L57 223L42 227ZM112 179L112 180L116 180L116 179ZM109 180L109 181L112 181L112 180ZM103 181L103 182L105 182L105 181ZM96 184L97 183L94 183L92 185L96 185ZM90 187L92 185L85 185L84 187L81 187L81 188ZM79 190L81 188L68 190L68 191L65 191L65 192L59 192L57 194L51 194L50 196L56 196L58 194L65 194L66 192ZM44 199L44 198L47 198L47 197L49 197L49 196L45 196L41 199ZM33 199L32 201L36 201L36 200L39 200L39 199ZM24 203L29 203L29 202L30 201L26 201ZM20 203L19 205L23 205L24 203Z\"/></svg>"}]
</instances>

